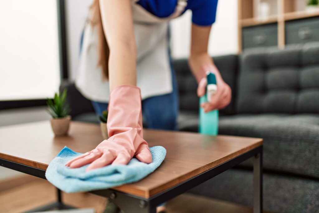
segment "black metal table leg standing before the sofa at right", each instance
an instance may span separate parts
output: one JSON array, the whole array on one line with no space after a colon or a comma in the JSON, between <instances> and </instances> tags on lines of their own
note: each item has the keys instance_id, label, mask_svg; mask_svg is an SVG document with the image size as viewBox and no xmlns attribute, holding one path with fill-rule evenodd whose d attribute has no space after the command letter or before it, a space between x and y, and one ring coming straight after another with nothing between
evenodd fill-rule
<instances>
[{"instance_id":1,"label":"black metal table leg standing before the sofa at right","mask_svg":"<svg viewBox=\"0 0 319 213\"><path fill-rule=\"evenodd\" d=\"M254 175L253 212L263 212L263 150L252 157Z\"/></svg>"}]
</instances>

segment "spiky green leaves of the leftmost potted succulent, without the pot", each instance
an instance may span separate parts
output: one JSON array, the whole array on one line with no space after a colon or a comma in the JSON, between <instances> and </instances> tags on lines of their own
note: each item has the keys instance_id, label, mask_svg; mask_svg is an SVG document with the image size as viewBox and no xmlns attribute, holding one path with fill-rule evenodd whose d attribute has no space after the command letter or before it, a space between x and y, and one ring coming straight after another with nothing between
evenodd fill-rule
<instances>
[{"instance_id":1,"label":"spiky green leaves of the leftmost potted succulent, without the pot","mask_svg":"<svg viewBox=\"0 0 319 213\"><path fill-rule=\"evenodd\" d=\"M54 98L47 98L48 112L52 118L64 118L69 115L71 109L65 104L67 90L64 89L62 94L55 93Z\"/></svg>"}]
</instances>

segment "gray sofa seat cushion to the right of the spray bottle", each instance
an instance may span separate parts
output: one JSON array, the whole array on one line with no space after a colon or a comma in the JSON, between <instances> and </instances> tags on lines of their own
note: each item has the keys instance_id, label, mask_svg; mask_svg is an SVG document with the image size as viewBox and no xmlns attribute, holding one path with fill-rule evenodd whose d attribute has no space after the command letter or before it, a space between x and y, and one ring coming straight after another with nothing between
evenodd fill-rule
<instances>
[{"instance_id":1,"label":"gray sofa seat cushion to the right of the spray bottle","mask_svg":"<svg viewBox=\"0 0 319 213\"><path fill-rule=\"evenodd\" d=\"M263 138L265 169L319 178L317 114L223 116L219 134Z\"/></svg>"}]
</instances>

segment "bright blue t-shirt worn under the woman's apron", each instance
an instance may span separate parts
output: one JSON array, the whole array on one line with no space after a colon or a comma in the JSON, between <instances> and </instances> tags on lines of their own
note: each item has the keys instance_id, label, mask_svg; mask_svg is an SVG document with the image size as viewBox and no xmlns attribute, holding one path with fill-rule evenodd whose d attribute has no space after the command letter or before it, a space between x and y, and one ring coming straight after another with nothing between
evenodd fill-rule
<instances>
[{"instance_id":1,"label":"bright blue t-shirt worn under the woman's apron","mask_svg":"<svg viewBox=\"0 0 319 213\"><path fill-rule=\"evenodd\" d=\"M209 26L215 22L218 0L188 0L185 11L193 13L192 22L200 26ZM177 5L177 0L139 0L145 10L159 18L170 16ZM183 11L183 13L185 12Z\"/></svg>"}]
</instances>

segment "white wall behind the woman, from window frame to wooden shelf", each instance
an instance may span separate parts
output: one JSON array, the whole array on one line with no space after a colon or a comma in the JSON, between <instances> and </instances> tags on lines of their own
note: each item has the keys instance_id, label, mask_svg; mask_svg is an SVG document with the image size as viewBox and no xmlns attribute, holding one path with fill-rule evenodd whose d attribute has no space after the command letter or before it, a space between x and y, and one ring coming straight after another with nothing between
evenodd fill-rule
<instances>
[{"instance_id":1,"label":"white wall behind the woman, from window frame to wooden shelf","mask_svg":"<svg viewBox=\"0 0 319 213\"><path fill-rule=\"evenodd\" d=\"M79 41L88 7L92 0L66 0L67 44L70 79L74 80L78 67ZM172 56L188 57L190 44L191 11L171 22ZM216 22L212 27L209 53L213 56L238 53L237 0L219 0Z\"/></svg>"}]
</instances>

